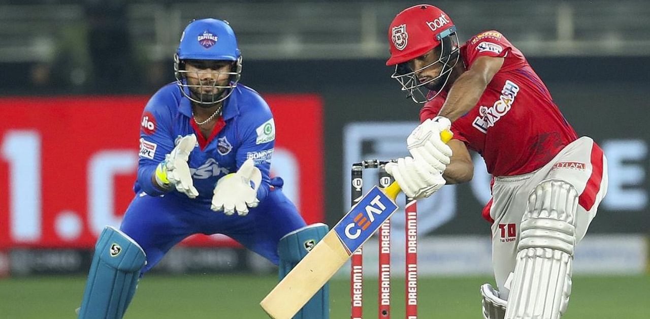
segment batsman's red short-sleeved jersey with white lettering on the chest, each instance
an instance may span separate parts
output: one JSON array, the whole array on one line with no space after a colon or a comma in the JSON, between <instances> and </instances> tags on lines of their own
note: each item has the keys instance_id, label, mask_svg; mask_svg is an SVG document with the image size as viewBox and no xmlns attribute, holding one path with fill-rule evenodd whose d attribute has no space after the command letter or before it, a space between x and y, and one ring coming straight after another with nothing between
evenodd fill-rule
<instances>
[{"instance_id":1,"label":"batsman's red short-sleeved jersey with white lettering on the chest","mask_svg":"<svg viewBox=\"0 0 650 319\"><path fill-rule=\"evenodd\" d=\"M478 57L504 62L467 114L452 123L454 138L485 160L495 176L530 173L577 139L551 94L517 48L497 31L473 36L460 47L465 67ZM422 107L420 120L437 116L447 92Z\"/></svg>"}]
</instances>

